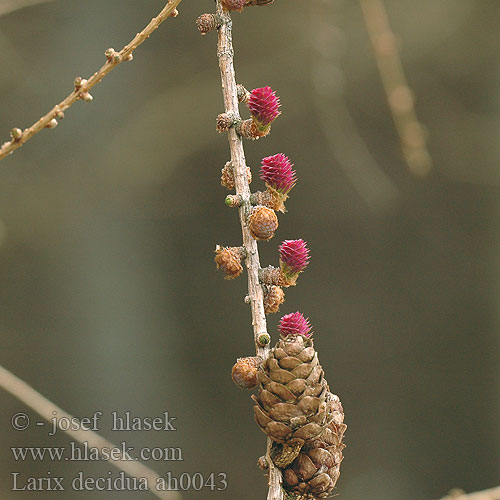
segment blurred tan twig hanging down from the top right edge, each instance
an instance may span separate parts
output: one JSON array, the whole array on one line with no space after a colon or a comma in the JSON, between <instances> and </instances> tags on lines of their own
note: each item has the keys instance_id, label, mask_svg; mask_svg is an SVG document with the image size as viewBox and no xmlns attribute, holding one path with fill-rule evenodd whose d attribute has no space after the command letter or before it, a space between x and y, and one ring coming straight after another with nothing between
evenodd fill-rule
<instances>
[{"instance_id":1,"label":"blurred tan twig hanging down from the top right edge","mask_svg":"<svg viewBox=\"0 0 500 500\"><path fill-rule=\"evenodd\" d=\"M384 2L360 0L360 4L406 163L412 173L426 175L432 168L426 132L418 121L413 93L406 80Z\"/></svg>"}]
</instances>

